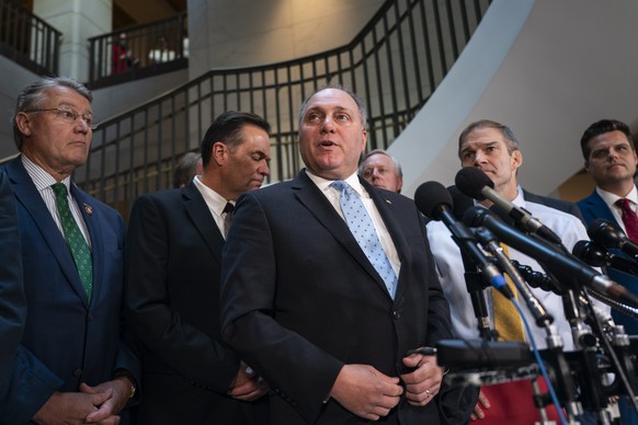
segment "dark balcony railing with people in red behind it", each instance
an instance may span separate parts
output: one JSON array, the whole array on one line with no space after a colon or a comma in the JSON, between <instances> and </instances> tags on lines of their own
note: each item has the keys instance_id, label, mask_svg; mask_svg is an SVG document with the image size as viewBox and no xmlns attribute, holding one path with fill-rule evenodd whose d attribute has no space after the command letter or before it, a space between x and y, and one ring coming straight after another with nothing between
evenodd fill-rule
<instances>
[{"instance_id":1,"label":"dark balcony railing with people in red behind it","mask_svg":"<svg viewBox=\"0 0 638 425\"><path fill-rule=\"evenodd\" d=\"M89 38L91 89L187 67L186 13Z\"/></svg>"}]
</instances>

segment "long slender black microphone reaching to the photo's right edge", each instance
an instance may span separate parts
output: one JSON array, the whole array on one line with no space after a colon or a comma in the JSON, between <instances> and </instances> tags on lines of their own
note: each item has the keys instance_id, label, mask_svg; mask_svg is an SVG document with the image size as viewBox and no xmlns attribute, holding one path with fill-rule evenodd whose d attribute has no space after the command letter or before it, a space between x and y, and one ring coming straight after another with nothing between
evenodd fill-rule
<instances>
[{"instance_id":1,"label":"long slender black microphone reaching to the photo's right edge","mask_svg":"<svg viewBox=\"0 0 638 425\"><path fill-rule=\"evenodd\" d=\"M555 245L542 239L529 237L505 225L486 208L472 207L468 209L463 217L463 221L469 227L487 227L508 245L536 259L536 261L562 276L570 276L571 280L573 280L573 288L578 288L579 283L584 283L585 286L605 294L616 301L638 307L638 297L624 286L594 271L576 256L559 251Z\"/></svg>"}]
</instances>

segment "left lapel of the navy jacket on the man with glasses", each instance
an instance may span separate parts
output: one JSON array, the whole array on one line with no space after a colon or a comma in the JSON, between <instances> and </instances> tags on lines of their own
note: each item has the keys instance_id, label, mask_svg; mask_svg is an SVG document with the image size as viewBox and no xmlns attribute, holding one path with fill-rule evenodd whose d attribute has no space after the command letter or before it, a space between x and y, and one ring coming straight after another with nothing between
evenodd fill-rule
<instances>
[{"instance_id":1,"label":"left lapel of the navy jacket on the man with glasses","mask_svg":"<svg viewBox=\"0 0 638 425\"><path fill-rule=\"evenodd\" d=\"M71 252L67 241L62 237L53 217L50 216L42 196L35 188L35 184L22 164L22 159L18 157L7 168L7 174L11 179L13 192L18 202L32 217L33 222L39 230L42 238L48 245L52 256L59 264L67 280L82 299L86 306L89 303L87 292L80 280L80 275L73 263Z\"/></svg>"}]
</instances>

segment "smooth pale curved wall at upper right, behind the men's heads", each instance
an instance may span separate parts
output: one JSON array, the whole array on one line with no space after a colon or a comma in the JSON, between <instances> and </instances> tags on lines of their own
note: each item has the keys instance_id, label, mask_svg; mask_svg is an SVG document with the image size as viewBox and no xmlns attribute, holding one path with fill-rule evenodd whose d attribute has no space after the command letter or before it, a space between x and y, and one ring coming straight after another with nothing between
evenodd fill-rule
<instances>
[{"instance_id":1,"label":"smooth pale curved wall at upper right, behind the men's heads","mask_svg":"<svg viewBox=\"0 0 638 425\"><path fill-rule=\"evenodd\" d=\"M638 2L495 0L430 102L391 145L403 191L454 183L458 135L470 122L509 125L524 156L520 181L551 194L582 169L579 140L601 118L638 125Z\"/></svg>"}]
</instances>

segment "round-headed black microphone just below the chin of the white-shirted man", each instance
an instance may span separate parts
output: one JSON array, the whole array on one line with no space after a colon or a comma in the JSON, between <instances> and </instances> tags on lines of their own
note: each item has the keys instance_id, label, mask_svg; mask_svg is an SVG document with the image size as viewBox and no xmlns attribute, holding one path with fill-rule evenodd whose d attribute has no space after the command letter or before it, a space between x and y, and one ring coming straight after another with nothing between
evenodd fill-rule
<instances>
[{"instance_id":1,"label":"round-headed black microphone just below the chin of the white-shirted man","mask_svg":"<svg viewBox=\"0 0 638 425\"><path fill-rule=\"evenodd\" d=\"M529 211L517 207L494 191L494 182L479 169L465 166L456 173L454 181L456 187L467 196L477 200L483 200L486 198L491 200L499 208L503 209L524 231L536 233L552 243L561 243L560 238L551 229L538 221Z\"/></svg>"}]
</instances>

